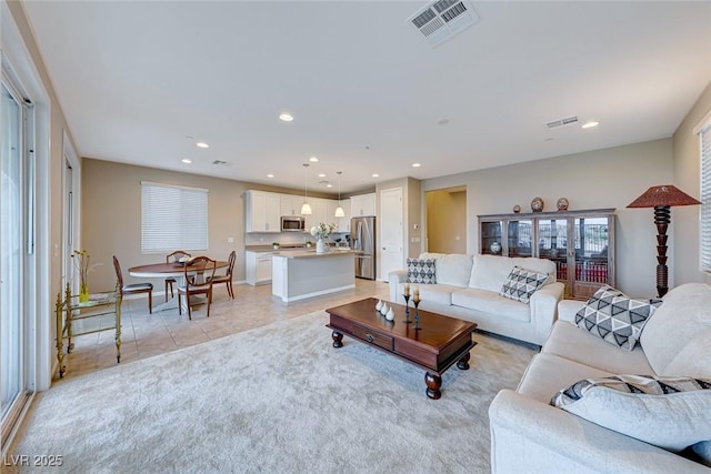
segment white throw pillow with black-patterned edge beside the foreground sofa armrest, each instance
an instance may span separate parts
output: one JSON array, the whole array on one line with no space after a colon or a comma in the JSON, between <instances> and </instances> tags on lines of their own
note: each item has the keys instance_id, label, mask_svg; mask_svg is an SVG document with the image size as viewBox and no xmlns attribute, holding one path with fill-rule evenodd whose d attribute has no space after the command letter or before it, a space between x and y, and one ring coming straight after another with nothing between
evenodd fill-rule
<instances>
[{"instance_id":1,"label":"white throw pillow with black-patterned edge beside the foreground sofa armrest","mask_svg":"<svg viewBox=\"0 0 711 474\"><path fill-rule=\"evenodd\" d=\"M711 380L615 375L581 380L551 404L665 450L711 438Z\"/></svg>"}]
</instances>

